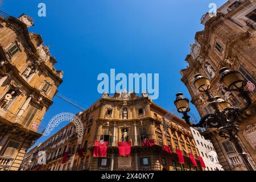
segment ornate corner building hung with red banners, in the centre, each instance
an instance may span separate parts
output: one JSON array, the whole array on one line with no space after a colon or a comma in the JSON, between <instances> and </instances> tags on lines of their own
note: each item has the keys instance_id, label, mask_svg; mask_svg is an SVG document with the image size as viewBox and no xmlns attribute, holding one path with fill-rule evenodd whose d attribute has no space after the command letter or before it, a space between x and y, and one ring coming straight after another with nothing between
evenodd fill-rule
<instances>
[{"instance_id":1,"label":"ornate corner building hung with red banners, in the centre","mask_svg":"<svg viewBox=\"0 0 256 182\"><path fill-rule=\"evenodd\" d=\"M84 125L82 144L77 143L75 126L69 123L28 152L22 168L51 171L202 170L201 156L189 126L176 116L167 122L167 113L147 94L141 97L127 92L111 97L104 94L89 109L77 114ZM105 146L104 155L96 154L99 145ZM120 151L121 147L127 148ZM45 152L46 164L38 165L39 151ZM181 155L178 156L177 151Z\"/></svg>"}]
</instances>

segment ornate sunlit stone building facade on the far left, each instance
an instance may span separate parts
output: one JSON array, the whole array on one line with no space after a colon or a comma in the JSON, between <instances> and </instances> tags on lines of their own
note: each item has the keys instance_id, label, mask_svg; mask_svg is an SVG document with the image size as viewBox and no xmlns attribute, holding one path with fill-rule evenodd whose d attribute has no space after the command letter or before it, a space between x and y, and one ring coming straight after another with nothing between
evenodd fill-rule
<instances>
[{"instance_id":1,"label":"ornate sunlit stone building facade on the far left","mask_svg":"<svg viewBox=\"0 0 256 182\"><path fill-rule=\"evenodd\" d=\"M29 16L0 11L0 170L19 169L63 82L42 37L28 32L33 25Z\"/></svg>"}]
</instances>

